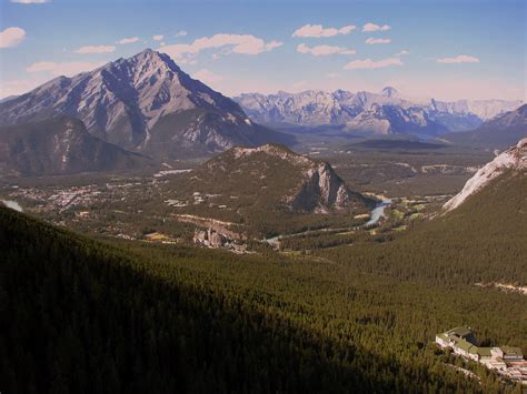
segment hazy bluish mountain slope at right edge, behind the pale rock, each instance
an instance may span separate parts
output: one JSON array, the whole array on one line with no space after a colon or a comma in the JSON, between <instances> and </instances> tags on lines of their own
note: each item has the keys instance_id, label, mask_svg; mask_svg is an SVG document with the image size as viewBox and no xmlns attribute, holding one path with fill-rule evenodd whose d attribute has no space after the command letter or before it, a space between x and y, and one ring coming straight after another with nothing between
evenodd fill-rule
<instances>
[{"instance_id":1,"label":"hazy bluish mountain slope at right edge, behind the pale rock","mask_svg":"<svg viewBox=\"0 0 527 394\"><path fill-rule=\"evenodd\" d=\"M527 104L524 104L515 111L488 120L476 130L447 134L445 139L461 144L503 149L526 137Z\"/></svg>"}]
</instances>

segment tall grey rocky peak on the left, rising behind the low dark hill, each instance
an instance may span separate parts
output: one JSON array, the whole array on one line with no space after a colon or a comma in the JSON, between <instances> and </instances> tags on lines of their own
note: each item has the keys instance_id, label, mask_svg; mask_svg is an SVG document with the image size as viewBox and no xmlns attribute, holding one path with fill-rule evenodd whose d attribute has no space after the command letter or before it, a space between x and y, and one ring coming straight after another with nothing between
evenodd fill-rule
<instances>
[{"instance_id":1,"label":"tall grey rocky peak on the left, rising behind the low dark hill","mask_svg":"<svg viewBox=\"0 0 527 394\"><path fill-rule=\"evenodd\" d=\"M235 101L152 50L73 78L59 77L0 103L2 125L57 114L82 120L88 132L107 142L159 159L292 141L253 124Z\"/></svg>"}]
</instances>

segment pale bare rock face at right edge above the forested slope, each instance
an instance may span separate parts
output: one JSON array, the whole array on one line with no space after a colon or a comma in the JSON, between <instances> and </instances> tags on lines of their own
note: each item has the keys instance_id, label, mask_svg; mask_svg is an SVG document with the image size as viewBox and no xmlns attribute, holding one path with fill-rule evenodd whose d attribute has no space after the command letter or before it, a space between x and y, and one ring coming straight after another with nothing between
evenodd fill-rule
<instances>
[{"instance_id":1,"label":"pale bare rock face at right edge above the forested slope","mask_svg":"<svg viewBox=\"0 0 527 394\"><path fill-rule=\"evenodd\" d=\"M444 209L451 211L461 205L468 198L479 193L487 188L495 179L507 173L516 176L527 174L527 138L520 140L516 145L497 155L491 162L479 169L470 178L463 190L453 199L447 201Z\"/></svg>"}]
</instances>

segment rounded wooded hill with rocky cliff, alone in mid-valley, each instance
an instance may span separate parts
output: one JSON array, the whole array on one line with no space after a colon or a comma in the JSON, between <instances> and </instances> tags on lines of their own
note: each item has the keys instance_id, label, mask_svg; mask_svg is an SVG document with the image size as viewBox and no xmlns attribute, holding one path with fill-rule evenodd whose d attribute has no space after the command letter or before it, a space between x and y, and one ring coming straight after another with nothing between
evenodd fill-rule
<instances>
[{"instance_id":1,"label":"rounded wooded hill with rocky cliff, alone in mid-valley","mask_svg":"<svg viewBox=\"0 0 527 394\"><path fill-rule=\"evenodd\" d=\"M349 226L374 205L328 163L277 144L232 148L161 188L173 214L220 220L253 238Z\"/></svg>"}]
</instances>

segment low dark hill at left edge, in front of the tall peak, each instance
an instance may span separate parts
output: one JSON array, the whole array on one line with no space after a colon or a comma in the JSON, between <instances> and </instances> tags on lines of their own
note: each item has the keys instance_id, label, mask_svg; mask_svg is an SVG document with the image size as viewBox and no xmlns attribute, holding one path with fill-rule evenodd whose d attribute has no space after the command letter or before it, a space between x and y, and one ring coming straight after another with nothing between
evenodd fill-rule
<instances>
[{"instance_id":1,"label":"low dark hill at left edge, in front of the tall peak","mask_svg":"<svg viewBox=\"0 0 527 394\"><path fill-rule=\"evenodd\" d=\"M105 142L81 121L52 118L0 128L1 175L56 175L127 170L149 160Z\"/></svg>"}]
</instances>

